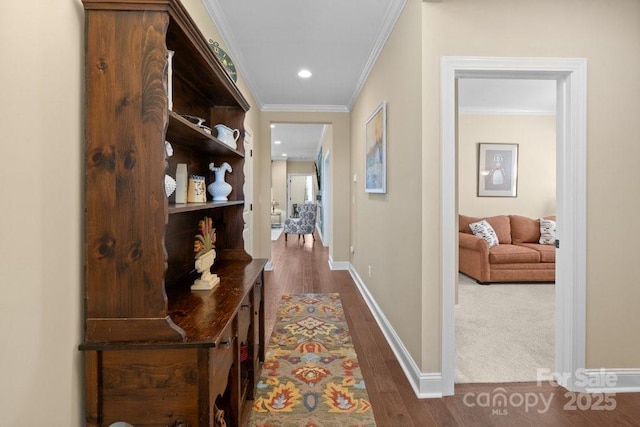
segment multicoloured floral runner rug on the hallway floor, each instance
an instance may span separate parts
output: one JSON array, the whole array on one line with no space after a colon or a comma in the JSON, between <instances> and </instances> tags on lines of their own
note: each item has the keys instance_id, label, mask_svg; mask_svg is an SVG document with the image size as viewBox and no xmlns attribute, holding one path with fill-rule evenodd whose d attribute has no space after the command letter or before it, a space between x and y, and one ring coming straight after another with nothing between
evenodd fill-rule
<instances>
[{"instance_id":1,"label":"multicoloured floral runner rug on the hallway floor","mask_svg":"<svg viewBox=\"0 0 640 427\"><path fill-rule=\"evenodd\" d=\"M284 295L250 426L375 426L340 295Z\"/></svg>"}]
</instances>

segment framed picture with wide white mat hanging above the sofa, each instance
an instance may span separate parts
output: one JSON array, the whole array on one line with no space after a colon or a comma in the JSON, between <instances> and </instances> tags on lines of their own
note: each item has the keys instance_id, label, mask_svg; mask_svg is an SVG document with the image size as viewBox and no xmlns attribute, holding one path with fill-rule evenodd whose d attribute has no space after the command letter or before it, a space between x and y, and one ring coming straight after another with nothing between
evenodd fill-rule
<instances>
[{"instance_id":1,"label":"framed picture with wide white mat hanging above the sofa","mask_svg":"<svg viewBox=\"0 0 640 427\"><path fill-rule=\"evenodd\" d=\"M478 197L517 197L518 144L478 144Z\"/></svg>"}]
</instances>

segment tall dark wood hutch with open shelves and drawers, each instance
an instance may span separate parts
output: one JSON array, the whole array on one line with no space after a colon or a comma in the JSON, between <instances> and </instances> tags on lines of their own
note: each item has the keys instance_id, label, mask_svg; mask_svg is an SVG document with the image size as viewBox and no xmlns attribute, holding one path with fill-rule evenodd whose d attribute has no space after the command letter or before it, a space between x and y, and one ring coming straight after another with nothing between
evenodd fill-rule
<instances>
[{"instance_id":1,"label":"tall dark wood hutch with open shelves and drawers","mask_svg":"<svg viewBox=\"0 0 640 427\"><path fill-rule=\"evenodd\" d=\"M241 425L264 358L266 260L244 250L244 117L249 104L177 0L83 0L86 37L86 422ZM172 57L172 106L168 100ZM171 107L171 108L170 108ZM184 114L240 130L231 148ZM165 153L165 141L173 156ZM178 163L213 180L226 202L175 204ZM209 197L210 199L210 197ZM198 221L213 219L221 281L198 277Z\"/></svg>"}]
</instances>

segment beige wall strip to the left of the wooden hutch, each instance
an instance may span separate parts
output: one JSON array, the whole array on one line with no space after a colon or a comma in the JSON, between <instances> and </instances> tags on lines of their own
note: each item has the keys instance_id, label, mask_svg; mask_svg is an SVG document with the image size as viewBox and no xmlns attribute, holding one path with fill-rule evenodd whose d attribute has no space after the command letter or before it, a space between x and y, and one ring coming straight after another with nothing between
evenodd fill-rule
<instances>
[{"instance_id":1,"label":"beige wall strip to the left of the wooden hutch","mask_svg":"<svg viewBox=\"0 0 640 427\"><path fill-rule=\"evenodd\" d=\"M80 1L0 6L0 424L84 425Z\"/></svg>"}]
</instances>

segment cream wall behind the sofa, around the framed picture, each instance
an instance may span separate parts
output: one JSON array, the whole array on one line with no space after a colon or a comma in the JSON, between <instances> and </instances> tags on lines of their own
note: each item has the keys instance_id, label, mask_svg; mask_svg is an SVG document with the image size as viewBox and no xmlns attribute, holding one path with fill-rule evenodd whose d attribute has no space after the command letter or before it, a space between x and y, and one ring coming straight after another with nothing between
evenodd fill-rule
<instances>
[{"instance_id":1,"label":"cream wall behind the sofa, around the framed picture","mask_svg":"<svg viewBox=\"0 0 640 427\"><path fill-rule=\"evenodd\" d=\"M555 116L458 116L458 212L476 217L555 214ZM478 197L478 143L518 144L517 197Z\"/></svg>"}]
</instances>

